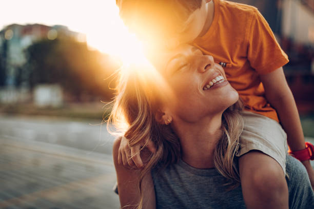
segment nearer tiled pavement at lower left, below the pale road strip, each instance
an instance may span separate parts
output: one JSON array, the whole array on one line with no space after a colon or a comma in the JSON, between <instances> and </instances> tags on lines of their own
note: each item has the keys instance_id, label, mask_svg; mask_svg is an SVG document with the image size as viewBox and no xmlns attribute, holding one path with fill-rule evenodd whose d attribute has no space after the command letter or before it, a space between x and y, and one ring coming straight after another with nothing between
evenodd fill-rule
<instances>
[{"instance_id":1,"label":"nearer tiled pavement at lower left, below the pale road strip","mask_svg":"<svg viewBox=\"0 0 314 209\"><path fill-rule=\"evenodd\" d=\"M110 155L0 139L0 208L119 208L114 182Z\"/></svg>"}]
</instances>

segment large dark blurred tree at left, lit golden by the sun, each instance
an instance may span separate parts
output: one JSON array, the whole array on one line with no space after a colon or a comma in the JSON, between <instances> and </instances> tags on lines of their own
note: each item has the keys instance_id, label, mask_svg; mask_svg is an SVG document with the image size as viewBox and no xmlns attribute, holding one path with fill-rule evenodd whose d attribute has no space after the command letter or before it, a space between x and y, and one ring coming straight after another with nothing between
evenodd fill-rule
<instances>
[{"instance_id":1,"label":"large dark blurred tree at left, lit golden by the sun","mask_svg":"<svg viewBox=\"0 0 314 209\"><path fill-rule=\"evenodd\" d=\"M110 79L105 79L119 64L108 55L89 50L86 43L73 38L43 39L26 49L26 57L31 89L39 83L59 83L77 101L82 97L112 97Z\"/></svg>"}]
</instances>

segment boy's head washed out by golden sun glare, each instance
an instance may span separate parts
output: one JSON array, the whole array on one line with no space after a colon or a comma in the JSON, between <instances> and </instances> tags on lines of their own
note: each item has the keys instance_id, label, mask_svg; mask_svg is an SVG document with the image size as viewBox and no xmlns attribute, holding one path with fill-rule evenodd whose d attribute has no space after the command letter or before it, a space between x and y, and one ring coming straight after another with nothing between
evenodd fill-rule
<instances>
[{"instance_id":1,"label":"boy's head washed out by golden sun glare","mask_svg":"<svg viewBox=\"0 0 314 209\"><path fill-rule=\"evenodd\" d=\"M202 31L211 0L116 0L126 26L150 44L189 43Z\"/></svg>"}]
</instances>

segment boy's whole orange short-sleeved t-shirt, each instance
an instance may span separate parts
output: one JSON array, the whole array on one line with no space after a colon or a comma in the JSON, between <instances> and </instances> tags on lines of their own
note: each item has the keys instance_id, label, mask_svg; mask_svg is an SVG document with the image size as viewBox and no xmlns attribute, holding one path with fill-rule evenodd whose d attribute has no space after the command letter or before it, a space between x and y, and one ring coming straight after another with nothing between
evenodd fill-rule
<instances>
[{"instance_id":1,"label":"boy's whole orange short-sleeved t-shirt","mask_svg":"<svg viewBox=\"0 0 314 209\"><path fill-rule=\"evenodd\" d=\"M213 1L213 22L204 36L194 40L194 45L224 67L228 81L244 102L245 110L279 121L276 110L265 98L259 75L287 64L287 55L257 8Z\"/></svg>"}]
</instances>

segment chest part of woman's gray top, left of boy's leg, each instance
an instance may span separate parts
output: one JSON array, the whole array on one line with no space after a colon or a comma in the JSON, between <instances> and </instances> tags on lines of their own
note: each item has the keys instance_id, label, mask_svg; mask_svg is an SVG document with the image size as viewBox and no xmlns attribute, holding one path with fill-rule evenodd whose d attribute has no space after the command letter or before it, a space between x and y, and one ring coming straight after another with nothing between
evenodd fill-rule
<instances>
[{"instance_id":1,"label":"chest part of woman's gray top, left of boy's leg","mask_svg":"<svg viewBox=\"0 0 314 209\"><path fill-rule=\"evenodd\" d=\"M227 192L216 169L195 169L179 161L152 171L156 208L246 208L241 187Z\"/></svg>"}]
</instances>

